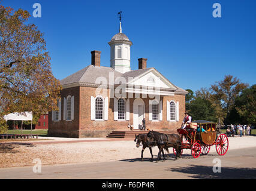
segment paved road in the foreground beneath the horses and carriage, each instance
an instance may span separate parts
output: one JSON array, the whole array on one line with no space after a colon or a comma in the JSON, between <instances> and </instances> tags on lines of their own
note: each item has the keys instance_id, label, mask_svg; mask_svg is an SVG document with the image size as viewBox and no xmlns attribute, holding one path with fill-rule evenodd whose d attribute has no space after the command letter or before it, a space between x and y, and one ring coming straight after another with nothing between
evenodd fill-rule
<instances>
[{"instance_id":1,"label":"paved road in the foreground beneath the horses and carriage","mask_svg":"<svg viewBox=\"0 0 256 191\"><path fill-rule=\"evenodd\" d=\"M213 172L213 160L220 159L221 172ZM197 159L191 155L165 162L141 162L139 158L94 164L46 165L41 173L32 167L1 168L0 178L256 178L256 147L228 150L225 156L209 153Z\"/></svg>"}]
</instances>

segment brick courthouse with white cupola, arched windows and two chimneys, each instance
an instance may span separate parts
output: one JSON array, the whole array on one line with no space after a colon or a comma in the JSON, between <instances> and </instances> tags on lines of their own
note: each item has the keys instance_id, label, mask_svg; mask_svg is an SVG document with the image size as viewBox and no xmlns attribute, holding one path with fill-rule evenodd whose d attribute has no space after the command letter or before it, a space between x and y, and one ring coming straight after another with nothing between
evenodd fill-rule
<instances>
[{"instance_id":1,"label":"brick courthouse with white cupola, arched windows and two chimneys","mask_svg":"<svg viewBox=\"0 0 256 191\"><path fill-rule=\"evenodd\" d=\"M138 129L142 120L150 130L180 127L187 91L172 84L147 59L130 69L132 42L122 33L113 36L110 67L101 66L101 51L92 51L92 63L62 79L59 111L49 112L50 136L107 135L113 130Z\"/></svg>"}]
</instances>

